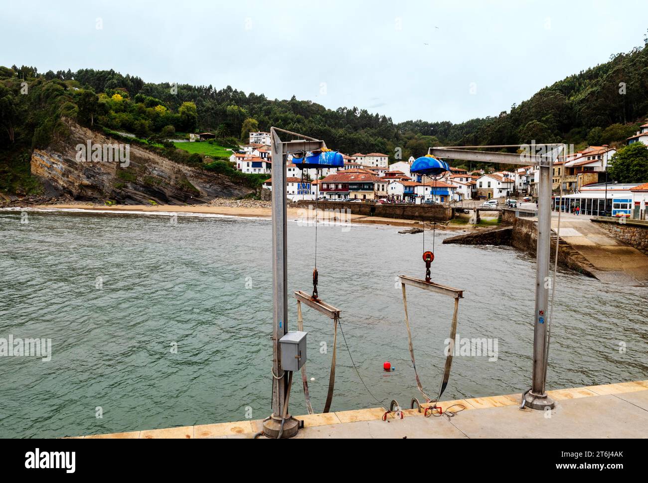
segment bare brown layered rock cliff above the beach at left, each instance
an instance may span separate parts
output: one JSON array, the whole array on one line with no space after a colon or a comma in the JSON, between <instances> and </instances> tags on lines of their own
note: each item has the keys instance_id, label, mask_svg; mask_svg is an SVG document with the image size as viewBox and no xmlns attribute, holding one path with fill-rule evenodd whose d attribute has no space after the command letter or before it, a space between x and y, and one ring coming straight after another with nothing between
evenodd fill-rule
<instances>
[{"instance_id":1,"label":"bare brown layered rock cliff above the beach at left","mask_svg":"<svg viewBox=\"0 0 648 483\"><path fill-rule=\"evenodd\" d=\"M45 149L35 149L31 171L38 176L50 196L72 196L76 200L118 204L200 204L216 197L235 198L253 191L232 182L227 176L194 169L150 152L140 145L128 146L127 162L91 159L79 155L79 146L115 147L117 141L66 120L70 135L52 141ZM110 148L109 148L110 149ZM104 150L104 153L106 151ZM105 156L104 156L105 157Z\"/></svg>"}]
</instances>

